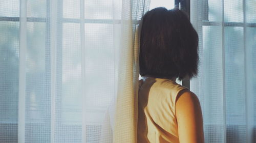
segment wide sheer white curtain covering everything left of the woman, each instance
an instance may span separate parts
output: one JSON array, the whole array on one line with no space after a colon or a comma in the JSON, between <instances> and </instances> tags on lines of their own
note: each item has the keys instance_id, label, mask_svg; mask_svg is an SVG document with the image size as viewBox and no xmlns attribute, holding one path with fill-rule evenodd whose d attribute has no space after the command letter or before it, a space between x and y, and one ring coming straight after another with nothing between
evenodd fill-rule
<instances>
[{"instance_id":1,"label":"wide sheer white curtain covering everything left of the woman","mask_svg":"<svg viewBox=\"0 0 256 143\"><path fill-rule=\"evenodd\" d=\"M0 142L135 142L135 30L148 6L1 0Z\"/></svg>"}]
</instances>

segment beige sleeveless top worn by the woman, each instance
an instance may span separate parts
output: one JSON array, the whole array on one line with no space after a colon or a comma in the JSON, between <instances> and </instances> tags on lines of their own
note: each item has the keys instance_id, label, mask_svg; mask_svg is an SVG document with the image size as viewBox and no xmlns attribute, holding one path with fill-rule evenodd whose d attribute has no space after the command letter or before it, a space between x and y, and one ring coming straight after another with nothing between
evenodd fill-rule
<instances>
[{"instance_id":1,"label":"beige sleeveless top worn by the woman","mask_svg":"<svg viewBox=\"0 0 256 143\"><path fill-rule=\"evenodd\" d=\"M143 79L138 97L138 143L179 142L175 101L184 89L172 79Z\"/></svg>"}]
</instances>

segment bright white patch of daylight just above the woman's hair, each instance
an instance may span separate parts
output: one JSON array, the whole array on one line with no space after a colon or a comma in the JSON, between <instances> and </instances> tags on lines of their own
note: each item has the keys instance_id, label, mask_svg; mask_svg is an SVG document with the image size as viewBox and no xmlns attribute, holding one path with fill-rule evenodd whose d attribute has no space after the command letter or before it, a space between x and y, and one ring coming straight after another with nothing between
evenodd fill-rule
<instances>
[{"instance_id":1,"label":"bright white patch of daylight just above the woman's hair","mask_svg":"<svg viewBox=\"0 0 256 143\"><path fill-rule=\"evenodd\" d=\"M150 9L165 7L166 9L174 8L174 0L151 0Z\"/></svg>"}]
</instances>

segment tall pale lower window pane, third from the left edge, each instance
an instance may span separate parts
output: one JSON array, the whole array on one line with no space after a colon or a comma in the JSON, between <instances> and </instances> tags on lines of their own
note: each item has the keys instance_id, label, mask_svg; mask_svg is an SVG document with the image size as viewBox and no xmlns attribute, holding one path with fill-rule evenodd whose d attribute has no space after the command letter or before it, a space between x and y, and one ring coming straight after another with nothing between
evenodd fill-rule
<instances>
[{"instance_id":1,"label":"tall pale lower window pane, third from the left edge","mask_svg":"<svg viewBox=\"0 0 256 143\"><path fill-rule=\"evenodd\" d=\"M59 25L61 26L61 25ZM63 23L57 37L55 139L82 140L80 24Z\"/></svg>"}]
</instances>

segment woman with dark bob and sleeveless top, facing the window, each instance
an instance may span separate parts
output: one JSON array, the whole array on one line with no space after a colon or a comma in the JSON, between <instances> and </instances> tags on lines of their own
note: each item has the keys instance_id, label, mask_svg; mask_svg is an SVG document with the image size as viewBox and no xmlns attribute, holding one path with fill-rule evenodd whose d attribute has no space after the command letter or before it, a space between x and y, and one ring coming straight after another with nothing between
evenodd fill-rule
<instances>
[{"instance_id":1,"label":"woman with dark bob and sleeveless top, facing the window","mask_svg":"<svg viewBox=\"0 0 256 143\"><path fill-rule=\"evenodd\" d=\"M138 143L204 142L199 100L176 83L198 66L198 35L184 12L155 8L143 16L139 60Z\"/></svg>"}]
</instances>

